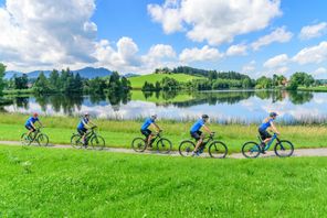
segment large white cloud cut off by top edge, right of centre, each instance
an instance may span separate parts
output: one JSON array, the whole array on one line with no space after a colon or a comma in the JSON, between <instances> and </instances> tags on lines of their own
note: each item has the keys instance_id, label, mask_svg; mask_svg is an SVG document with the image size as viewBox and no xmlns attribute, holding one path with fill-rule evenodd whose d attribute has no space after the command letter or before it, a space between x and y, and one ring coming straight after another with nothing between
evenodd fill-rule
<instances>
[{"instance_id":1,"label":"large white cloud cut off by top edge, right of centre","mask_svg":"<svg viewBox=\"0 0 327 218\"><path fill-rule=\"evenodd\" d=\"M149 4L148 12L166 33L186 31L192 41L219 45L266 28L282 14L279 4L279 0L166 0Z\"/></svg>"}]
</instances>

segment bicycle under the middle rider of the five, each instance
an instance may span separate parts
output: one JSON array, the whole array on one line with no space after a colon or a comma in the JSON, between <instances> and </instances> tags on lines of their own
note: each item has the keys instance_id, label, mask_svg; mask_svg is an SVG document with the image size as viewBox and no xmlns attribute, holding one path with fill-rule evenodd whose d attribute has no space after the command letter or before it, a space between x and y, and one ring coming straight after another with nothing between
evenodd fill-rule
<instances>
[{"instance_id":1,"label":"bicycle under the middle rider of the five","mask_svg":"<svg viewBox=\"0 0 327 218\"><path fill-rule=\"evenodd\" d=\"M172 149L172 143L170 140L162 138L161 132L162 131L159 131L152 134L155 138L151 140L150 144L148 144L148 138L135 138L131 141L131 149L136 152L144 152L149 145L152 145L157 141L157 152L168 154Z\"/></svg>"}]
</instances>

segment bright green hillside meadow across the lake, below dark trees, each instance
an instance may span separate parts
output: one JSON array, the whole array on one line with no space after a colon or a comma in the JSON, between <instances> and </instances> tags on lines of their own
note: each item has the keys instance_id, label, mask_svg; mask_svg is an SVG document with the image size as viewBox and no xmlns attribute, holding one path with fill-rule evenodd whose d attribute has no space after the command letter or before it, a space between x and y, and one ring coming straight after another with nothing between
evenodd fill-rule
<instances>
[{"instance_id":1,"label":"bright green hillside meadow across the lake, below dark trees","mask_svg":"<svg viewBox=\"0 0 327 218\"><path fill-rule=\"evenodd\" d=\"M179 83L186 83L193 79L203 78L203 77L197 77L197 76L191 76L187 74L149 74L144 76L131 77L129 78L129 80L134 89L141 89L145 81L155 84L156 81L161 81L161 79L165 77L175 78Z\"/></svg>"}]
</instances>

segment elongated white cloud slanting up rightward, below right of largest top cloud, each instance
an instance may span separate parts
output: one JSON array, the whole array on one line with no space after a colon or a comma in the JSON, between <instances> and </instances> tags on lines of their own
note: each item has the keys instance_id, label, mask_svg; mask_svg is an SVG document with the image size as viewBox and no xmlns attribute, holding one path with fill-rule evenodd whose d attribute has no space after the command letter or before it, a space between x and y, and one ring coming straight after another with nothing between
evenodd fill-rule
<instances>
[{"instance_id":1,"label":"elongated white cloud slanting up rightward, below right of largest top cloud","mask_svg":"<svg viewBox=\"0 0 327 218\"><path fill-rule=\"evenodd\" d=\"M252 48L254 51L260 50L262 46L270 45L272 43L278 42L278 43L286 43L293 37L293 33L286 31L286 28L277 28L272 33L264 35L260 37L257 41L252 43Z\"/></svg>"}]
</instances>

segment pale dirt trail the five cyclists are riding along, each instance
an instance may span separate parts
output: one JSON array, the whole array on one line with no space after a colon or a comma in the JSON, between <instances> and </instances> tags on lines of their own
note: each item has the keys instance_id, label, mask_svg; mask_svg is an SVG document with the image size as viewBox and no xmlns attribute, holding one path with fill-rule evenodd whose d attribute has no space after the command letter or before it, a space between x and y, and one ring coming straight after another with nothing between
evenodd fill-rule
<instances>
[{"instance_id":1,"label":"pale dirt trail the five cyclists are riding along","mask_svg":"<svg viewBox=\"0 0 327 218\"><path fill-rule=\"evenodd\" d=\"M2 145L15 145L20 146L21 143L18 141L0 141ZM67 144L50 144L48 148L50 149L73 149L71 145ZM135 153L131 149L123 149L123 148L106 148L103 150L105 152L115 152L115 153ZM172 151L169 154L158 154L156 151L145 151L138 154L154 154L154 155L170 155L170 156L179 156L177 151ZM207 157L208 154L202 154L201 156ZM272 157L275 156L273 151L268 151L266 154L260 155L260 157ZM319 148L319 149L297 149L294 151L293 156L327 156L327 148ZM241 153L232 153L228 155L229 159L244 159Z\"/></svg>"}]
</instances>

